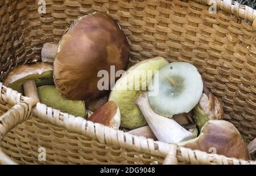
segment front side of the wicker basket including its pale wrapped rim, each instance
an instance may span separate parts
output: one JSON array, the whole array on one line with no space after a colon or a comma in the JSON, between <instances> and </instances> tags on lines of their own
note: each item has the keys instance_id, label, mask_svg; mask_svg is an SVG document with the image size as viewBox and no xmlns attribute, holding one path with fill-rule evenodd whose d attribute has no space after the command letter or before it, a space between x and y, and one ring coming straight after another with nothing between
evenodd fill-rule
<instances>
[{"instance_id":1,"label":"front side of the wicker basket including its pale wrapped rim","mask_svg":"<svg viewBox=\"0 0 256 176\"><path fill-rule=\"evenodd\" d=\"M0 88L3 103L25 99L10 88ZM8 109L1 106L7 112L0 119L0 140L6 135L2 151L11 159L0 151L0 164L256 164L133 136L40 103L32 109L25 100ZM31 113L35 117L28 119ZM41 147L45 161L39 160Z\"/></svg>"}]
</instances>

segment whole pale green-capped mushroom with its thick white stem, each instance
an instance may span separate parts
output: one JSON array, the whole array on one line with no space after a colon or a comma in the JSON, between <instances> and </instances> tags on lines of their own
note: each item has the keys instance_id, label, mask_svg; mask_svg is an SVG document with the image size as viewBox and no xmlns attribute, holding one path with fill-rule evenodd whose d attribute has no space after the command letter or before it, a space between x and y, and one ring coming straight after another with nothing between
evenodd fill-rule
<instances>
[{"instance_id":1,"label":"whole pale green-capped mushroom with its thick white stem","mask_svg":"<svg viewBox=\"0 0 256 176\"><path fill-rule=\"evenodd\" d=\"M189 113L202 93L203 80L197 68L190 63L173 62L155 74L148 92L141 93L136 103L158 140L179 143L196 135L185 130L172 117Z\"/></svg>"}]
</instances>

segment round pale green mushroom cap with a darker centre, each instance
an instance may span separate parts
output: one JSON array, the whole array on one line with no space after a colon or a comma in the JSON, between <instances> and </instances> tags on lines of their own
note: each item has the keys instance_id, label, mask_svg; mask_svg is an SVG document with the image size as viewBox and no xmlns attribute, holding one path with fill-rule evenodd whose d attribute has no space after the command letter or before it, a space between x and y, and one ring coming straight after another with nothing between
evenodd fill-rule
<instances>
[{"instance_id":1,"label":"round pale green mushroom cap with a darker centre","mask_svg":"<svg viewBox=\"0 0 256 176\"><path fill-rule=\"evenodd\" d=\"M162 67L148 86L151 108L164 117L188 113L197 105L202 93L201 75L187 62L173 62Z\"/></svg>"}]
</instances>

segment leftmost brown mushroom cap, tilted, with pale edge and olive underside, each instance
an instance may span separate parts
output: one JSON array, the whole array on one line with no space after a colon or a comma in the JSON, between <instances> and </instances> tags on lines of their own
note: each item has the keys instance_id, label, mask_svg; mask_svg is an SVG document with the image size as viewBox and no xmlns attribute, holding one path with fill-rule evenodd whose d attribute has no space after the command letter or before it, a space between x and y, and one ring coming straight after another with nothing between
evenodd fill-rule
<instances>
[{"instance_id":1,"label":"leftmost brown mushroom cap, tilted, with pale edge and olive underside","mask_svg":"<svg viewBox=\"0 0 256 176\"><path fill-rule=\"evenodd\" d=\"M22 85L26 80L35 80L36 86L52 85L52 65L38 62L14 68L5 78L3 84L23 93Z\"/></svg>"}]
</instances>

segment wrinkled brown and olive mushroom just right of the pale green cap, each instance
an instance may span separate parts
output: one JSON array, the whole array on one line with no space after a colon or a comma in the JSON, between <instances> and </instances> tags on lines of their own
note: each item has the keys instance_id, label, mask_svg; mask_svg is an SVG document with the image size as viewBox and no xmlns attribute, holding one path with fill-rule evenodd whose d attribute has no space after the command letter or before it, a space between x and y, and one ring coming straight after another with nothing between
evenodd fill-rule
<instances>
[{"instance_id":1,"label":"wrinkled brown and olive mushroom just right of the pale green cap","mask_svg":"<svg viewBox=\"0 0 256 176\"><path fill-rule=\"evenodd\" d=\"M208 96L207 96L208 94ZM199 130L205 125L206 122L213 119L221 120L224 118L223 109L220 101L212 93L203 93L200 98L199 104L193 109L196 125Z\"/></svg>"}]
</instances>

